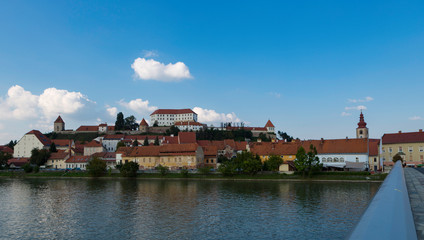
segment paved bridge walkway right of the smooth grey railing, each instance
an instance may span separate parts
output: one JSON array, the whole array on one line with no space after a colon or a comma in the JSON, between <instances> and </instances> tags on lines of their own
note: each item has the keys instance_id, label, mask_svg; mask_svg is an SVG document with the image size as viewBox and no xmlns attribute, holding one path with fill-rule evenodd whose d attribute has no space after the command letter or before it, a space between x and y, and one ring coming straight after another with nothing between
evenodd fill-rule
<instances>
[{"instance_id":1,"label":"paved bridge walkway right of the smooth grey railing","mask_svg":"<svg viewBox=\"0 0 424 240\"><path fill-rule=\"evenodd\" d=\"M404 168L418 239L424 240L424 169Z\"/></svg>"}]
</instances>

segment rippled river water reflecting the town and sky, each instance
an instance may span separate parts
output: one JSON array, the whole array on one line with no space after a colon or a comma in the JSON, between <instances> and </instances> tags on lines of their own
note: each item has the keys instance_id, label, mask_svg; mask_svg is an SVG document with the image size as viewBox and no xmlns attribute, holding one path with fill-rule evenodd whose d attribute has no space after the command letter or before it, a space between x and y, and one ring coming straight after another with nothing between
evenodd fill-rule
<instances>
[{"instance_id":1,"label":"rippled river water reflecting the town and sky","mask_svg":"<svg viewBox=\"0 0 424 240\"><path fill-rule=\"evenodd\" d=\"M379 185L0 179L0 238L343 239Z\"/></svg>"}]
</instances>

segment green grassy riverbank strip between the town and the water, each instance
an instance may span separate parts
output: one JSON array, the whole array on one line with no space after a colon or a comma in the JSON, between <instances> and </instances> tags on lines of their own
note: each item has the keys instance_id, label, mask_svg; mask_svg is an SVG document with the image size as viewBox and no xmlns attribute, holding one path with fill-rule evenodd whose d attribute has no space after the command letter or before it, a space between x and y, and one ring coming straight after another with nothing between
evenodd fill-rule
<instances>
[{"instance_id":1,"label":"green grassy riverbank strip between the town and the water","mask_svg":"<svg viewBox=\"0 0 424 240\"><path fill-rule=\"evenodd\" d=\"M200 173L138 173L135 177L123 177L120 173L107 173L103 176L92 177L85 171L54 171L25 173L23 171L2 171L0 177L7 178L87 178L87 179L178 179L178 180L258 180L258 181L352 181L352 182L382 182L387 174L364 174L363 172L317 172L311 177L304 178L301 174L267 173L238 174L234 176L223 176L222 174L200 174Z\"/></svg>"}]
</instances>

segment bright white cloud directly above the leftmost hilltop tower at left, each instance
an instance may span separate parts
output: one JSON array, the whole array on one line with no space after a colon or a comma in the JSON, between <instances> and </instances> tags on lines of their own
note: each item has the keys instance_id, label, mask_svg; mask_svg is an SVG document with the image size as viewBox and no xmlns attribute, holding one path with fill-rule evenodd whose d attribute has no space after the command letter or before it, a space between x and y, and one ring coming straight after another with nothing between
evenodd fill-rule
<instances>
[{"instance_id":1,"label":"bright white cloud directly above the leftmost hilltop tower at left","mask_svg":"<svg viewBox=\"0 0 424 240\"><path fill-rule=\"evenodd\" d=\"M59 114L73 114L82 109L90 100L80 92L69 92L56 88L48 88L40 95L38 106L48 118Z\"/></svg>"}]
</instances>

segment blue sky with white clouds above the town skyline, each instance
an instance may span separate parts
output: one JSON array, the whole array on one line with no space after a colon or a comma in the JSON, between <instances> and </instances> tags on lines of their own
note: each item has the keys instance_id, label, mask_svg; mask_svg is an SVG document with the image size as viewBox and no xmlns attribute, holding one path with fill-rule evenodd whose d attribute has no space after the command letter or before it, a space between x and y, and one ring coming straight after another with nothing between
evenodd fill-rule
<instances>
[{"instance_id":1,"label":"blue sky with white clouds above the town skyline","mask_svg":"<svg viewBox=\"0 0 424 240\"><path fill-rule=\"evenodd\" d=\"M422 1L5 2L0 143L50 131L59 113L75 129L155 108L196 108L214 125L271 119L301 139L354 137L366 108L371 137L417 131L423 12Z\"/></svg>"}]
</instances>

